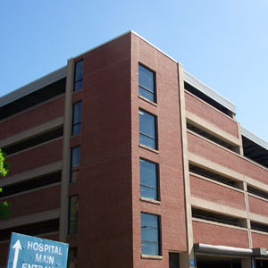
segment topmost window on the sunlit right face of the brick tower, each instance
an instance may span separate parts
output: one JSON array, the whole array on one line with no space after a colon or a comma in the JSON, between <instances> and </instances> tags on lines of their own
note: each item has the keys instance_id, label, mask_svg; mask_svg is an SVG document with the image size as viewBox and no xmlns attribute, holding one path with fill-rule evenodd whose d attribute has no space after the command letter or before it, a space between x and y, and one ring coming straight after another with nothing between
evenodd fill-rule
<instances>
[{"instance_id":1,"label":"topmost window on the sunlit right face of the brick tower","mask_svg":"<svg viewBox=\"0 0 268 268\"><path fill-rule=\"evenodd\" d=\"M155 102L155 72L138 65L138 94Z\"/></svg>"}]
</instances>

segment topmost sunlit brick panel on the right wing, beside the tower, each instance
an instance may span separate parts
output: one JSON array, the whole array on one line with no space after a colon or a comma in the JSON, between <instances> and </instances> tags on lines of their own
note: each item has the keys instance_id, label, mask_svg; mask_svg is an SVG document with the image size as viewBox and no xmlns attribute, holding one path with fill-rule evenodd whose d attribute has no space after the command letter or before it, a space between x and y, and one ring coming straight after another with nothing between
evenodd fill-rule
<instances>
[{"instance_id":1,"label":"topmost sunlit brick panel on the right wing, beside the tower","mask_svg":"<svg viewBox=\"0 0 268 268\"><path fill-rule=\"evenodd\" d=\"M191 96L185 91L185 105L186 110L197 114L197 116L205 119L217 128L229 133L230 135L238 138L238 124L236 121L230 119L230 117L223 115L222 113L215 110L210 105L206 105L195 96Z\"/></svg>"}]
</instances>

